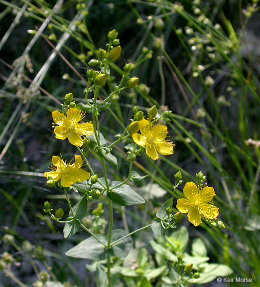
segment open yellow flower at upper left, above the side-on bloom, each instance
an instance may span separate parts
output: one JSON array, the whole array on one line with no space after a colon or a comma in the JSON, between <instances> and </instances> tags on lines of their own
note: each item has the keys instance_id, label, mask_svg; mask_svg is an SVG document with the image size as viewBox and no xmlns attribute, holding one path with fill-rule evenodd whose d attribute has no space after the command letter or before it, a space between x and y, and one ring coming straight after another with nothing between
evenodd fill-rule
<instances>
[{"instance_id":1,"label":"open yellow flower at upper left, above the side-on bloom","mask_svg":"<svg viewBox=\"0 0 260 287\"><path fill-rule=\"evenodd\" d=\"M82 146L82 136L91 136L94 132L91 123L79 124L84 118L84 113L76 108L70 108L67 111L67 116L53 111L51 113L53 121L57 126L54 129L55 138L65 140L69 136L69 142L73 145Z\"/></svg>"}]
</instances>

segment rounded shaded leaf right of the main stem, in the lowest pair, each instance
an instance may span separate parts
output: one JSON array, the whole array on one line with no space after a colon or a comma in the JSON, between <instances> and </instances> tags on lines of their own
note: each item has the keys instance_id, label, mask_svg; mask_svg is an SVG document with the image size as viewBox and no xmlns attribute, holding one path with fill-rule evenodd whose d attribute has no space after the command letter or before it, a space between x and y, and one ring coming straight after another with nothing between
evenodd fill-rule
<instances>
[{"instance_id":1,"label":"rounded shaded leaf right of the main stem, in the lowest pair","mask_svg":"<svg viewBox=\"0 0 260 287\"><path fill-rule=\"evenodd\" d=\"M115 229L112 231L111 241L112 243L118 239L128 235L128 233L123 229ZM133 241L131 237L127 237L124 240L120 241L116 245L113 245L110 253L117 258L126 258L132 249Z\"/></svg>"}]
</instances>

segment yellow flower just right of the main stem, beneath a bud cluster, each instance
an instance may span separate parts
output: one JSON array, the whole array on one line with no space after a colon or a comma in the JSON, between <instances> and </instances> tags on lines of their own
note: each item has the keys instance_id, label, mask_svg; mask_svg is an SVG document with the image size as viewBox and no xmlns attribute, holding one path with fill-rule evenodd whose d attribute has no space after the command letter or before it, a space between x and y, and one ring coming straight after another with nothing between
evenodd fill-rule
<instances>
[{"instance_id":1,"label":"yellow flower just right of the main stem, beneath a bud cluster","mask_svg":"<svg viewBox=\"0 0 260 287\"><path fill-rule=\"evenodd\" d=\"M145 146L146 154L153 160L159 158L159 154L168 155L173 153L172 142L165 141L167 127L163 125L152 125L149 121L142 119L139 123L141 134L133 134L134 143Z\"/></svg>"}]
</instances>

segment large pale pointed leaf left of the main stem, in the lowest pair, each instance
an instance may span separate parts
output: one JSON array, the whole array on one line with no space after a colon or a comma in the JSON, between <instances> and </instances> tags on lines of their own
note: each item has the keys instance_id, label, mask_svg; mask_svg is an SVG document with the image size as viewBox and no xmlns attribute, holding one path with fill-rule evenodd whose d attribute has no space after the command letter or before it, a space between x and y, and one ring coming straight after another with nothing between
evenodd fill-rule
<instances>
[{"instance_id":1,"label":"large pale pointed leaf left of the main stem, in the lowest pair","mask_svg":"<svg viewBox=\"0 0 260 287\"><path fill-rule=\"evenodd\" d=\"M107 239L105 236L100 234L96 236L102 243L107 244ZM70 257L89 259L93 261L104 260L108 256L105 246L97 241L97 239L94 237L83 240L65 254Z\"/></svg>"}]
</instances>

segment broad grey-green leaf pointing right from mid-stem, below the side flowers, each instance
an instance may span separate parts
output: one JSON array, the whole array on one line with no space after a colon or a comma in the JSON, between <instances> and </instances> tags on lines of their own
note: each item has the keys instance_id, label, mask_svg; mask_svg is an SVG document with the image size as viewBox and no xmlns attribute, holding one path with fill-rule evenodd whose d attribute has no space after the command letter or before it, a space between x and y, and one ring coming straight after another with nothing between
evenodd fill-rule
<instances>
[{"instance_id":1,"label":"broad grey-green leaf pointing right from mid-stem, below the side flowers","mask_svg":"<svg viewBox=\"0 0 260 287\"><path fill-rule=\"evenodd\" d=\"M118 184L121 184L121 182L112 181L110 187L113 188ZM127 184L123 184L119 187L116 187L115 189L111 190L107 195L108 198L110 198L112 201L123 206L130 206L145 202L145 200Z\"/></svg>"}]
</instances>

